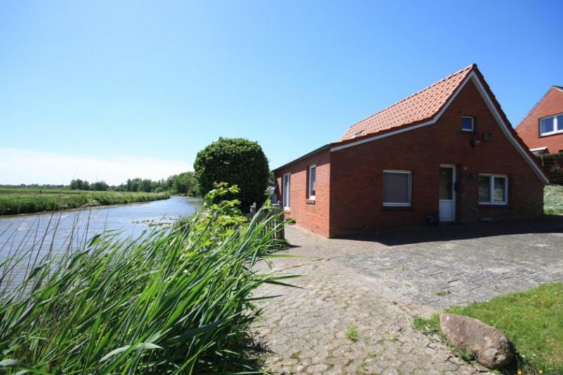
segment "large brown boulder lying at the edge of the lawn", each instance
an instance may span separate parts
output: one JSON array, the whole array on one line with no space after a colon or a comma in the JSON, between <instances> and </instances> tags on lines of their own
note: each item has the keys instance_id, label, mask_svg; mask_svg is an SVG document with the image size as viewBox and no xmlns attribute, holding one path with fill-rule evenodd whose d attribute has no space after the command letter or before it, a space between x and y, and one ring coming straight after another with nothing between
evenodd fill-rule
<instances>
[{"instance_id":1,"label":"large brown boulder lying at the edge of the lawn","mask_svg":"<svg viewBox=\"0 0 563 375\"><path fill-rule=\"evenodd\" d=\"M489 369L505 367L514 360L512 342L498 329L481 320L455 314L440 314L440 329L450 344Z\"/></svg>"}]
</instances>

